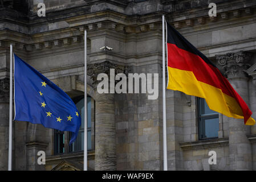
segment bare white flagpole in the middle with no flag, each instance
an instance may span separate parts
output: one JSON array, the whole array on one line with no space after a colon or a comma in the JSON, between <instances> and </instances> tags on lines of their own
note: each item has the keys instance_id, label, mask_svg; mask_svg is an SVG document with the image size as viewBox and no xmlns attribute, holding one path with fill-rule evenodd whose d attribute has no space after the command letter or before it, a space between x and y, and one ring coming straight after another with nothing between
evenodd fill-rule
<instances>
[{"instance_id":1,"label":"bare white flagpole in the middle with no flag","mask_svg":"<svg viewBox=\"0 0 256 182\"><path fill-rule=\"evenodd\" d=\"M87 171L87 31L84 31L84 171Z\"/></svg>"}]
</instances>

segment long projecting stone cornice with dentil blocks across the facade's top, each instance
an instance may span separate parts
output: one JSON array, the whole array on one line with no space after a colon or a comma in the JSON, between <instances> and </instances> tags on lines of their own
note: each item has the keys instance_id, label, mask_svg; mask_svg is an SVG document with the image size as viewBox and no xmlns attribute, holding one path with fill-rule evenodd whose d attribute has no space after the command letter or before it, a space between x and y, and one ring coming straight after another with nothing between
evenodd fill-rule
<instances>
[{"instance_id":1,"label":"long projecting stone cornice with dentil blocks across the facade's top","mask_svg":"<svg viewBox=\"0 0 256 182\"><path fill-rule=\"evenodd\" d=\"M165 3L172 4L173 1L166 1ZM183 2L178 2L176 5L179 3ZM201 9L198 9L198 7L194 9L185 9L186 11L184 10L184 12L188 15L182 13L176 14L176 11L180 11L174 9L174 13L166 13L166 18L169 19L169 23L172 23L176 28L197 27L197 30L199 31L200 29L198 28L205 27L203 25L205 23L209 23L210 25L213 24L213 21L216 21L223 24L222 22L225 22L226 20L229 22L231 19L238 21L243 17L251 17L254 15L256 2L245 2L247 6L246 8L240 4L235 1L234 3L231 3L231 5L235 5L235 7L232 8L227 6L225 3L224 5L218 5L219 12L217 11L218 16L216 19L209 18L208 7ZM84 6L86 7L86 5ZM63 17L50 20L50 22L53 23L30 23L26 25L27 27L25 26L21 29L19 29L21 24L19 24L19 26L14 26L15 22L13 22L9 27L17 27L17 30L15 30L16 32L11 30L0 30L0 47L9 47L10 43L13 43L15 48L31 52L40 51L44 48L62 47L66 45L70 46L71 44L83 42L84 30L88 31L88 37L90 35L96 35L95 32L104 30L128 36L136 34L139 35L144 32L159 31L161 30L162 13L165 12L156 11L154 13L144 15L127 15L113 10L104 10L95 13L89 12L86 14L77 14L72 17L66 16L66 18ZM250 19L247 21L249 20ZM11 20L7 20L7 22L8 25L11 23ZM214 24L216 24L216 22L214 22ZM231 25L229 24L229 26ZM31 32L28 31L28 27ZM20 30L22 30L23 33L17 32ZM43 30L43 32L41 30ZM195 32L194 29L193 32Z\"/></svg>"}]
</instances>

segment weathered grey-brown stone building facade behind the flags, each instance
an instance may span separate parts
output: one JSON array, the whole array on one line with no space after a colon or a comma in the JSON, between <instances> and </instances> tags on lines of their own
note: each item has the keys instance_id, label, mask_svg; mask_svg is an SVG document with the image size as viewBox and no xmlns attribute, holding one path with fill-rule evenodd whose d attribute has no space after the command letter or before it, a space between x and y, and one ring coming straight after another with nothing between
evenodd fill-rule
<instances>
[{"instance_id":1,"label":"weathered grey-brown stone building facade behind the flags","mask_svg":"<svg viewBox=\"0 0 256 182\"><path fill-rule=\"evenodd\" d=\"M37 14L42 2L45 17ZM217 5L216 17L208 15L211 2ZM10 44L14 53L79 101L87 30L89 170L162 170L162 14L218 65L256 118L255 11L254 0L1 0L0 170L7 170L8 159ZM104 46L113 49L101 50ZM97 93L96 77L109 68L125 74L159 73L159 97ZM222 114L205 115L203 102L166 90L168 169L256 170L256 126ZM217 121L210 137L205 116ZM68 132L22 121L14 121L13 131L13 169L83 169L82 142L68 146ZM40 150L46 152L46 165L36 162ZM209 151L216 151L217 164L209 165Z\"/></svg>"}]
</instances>

